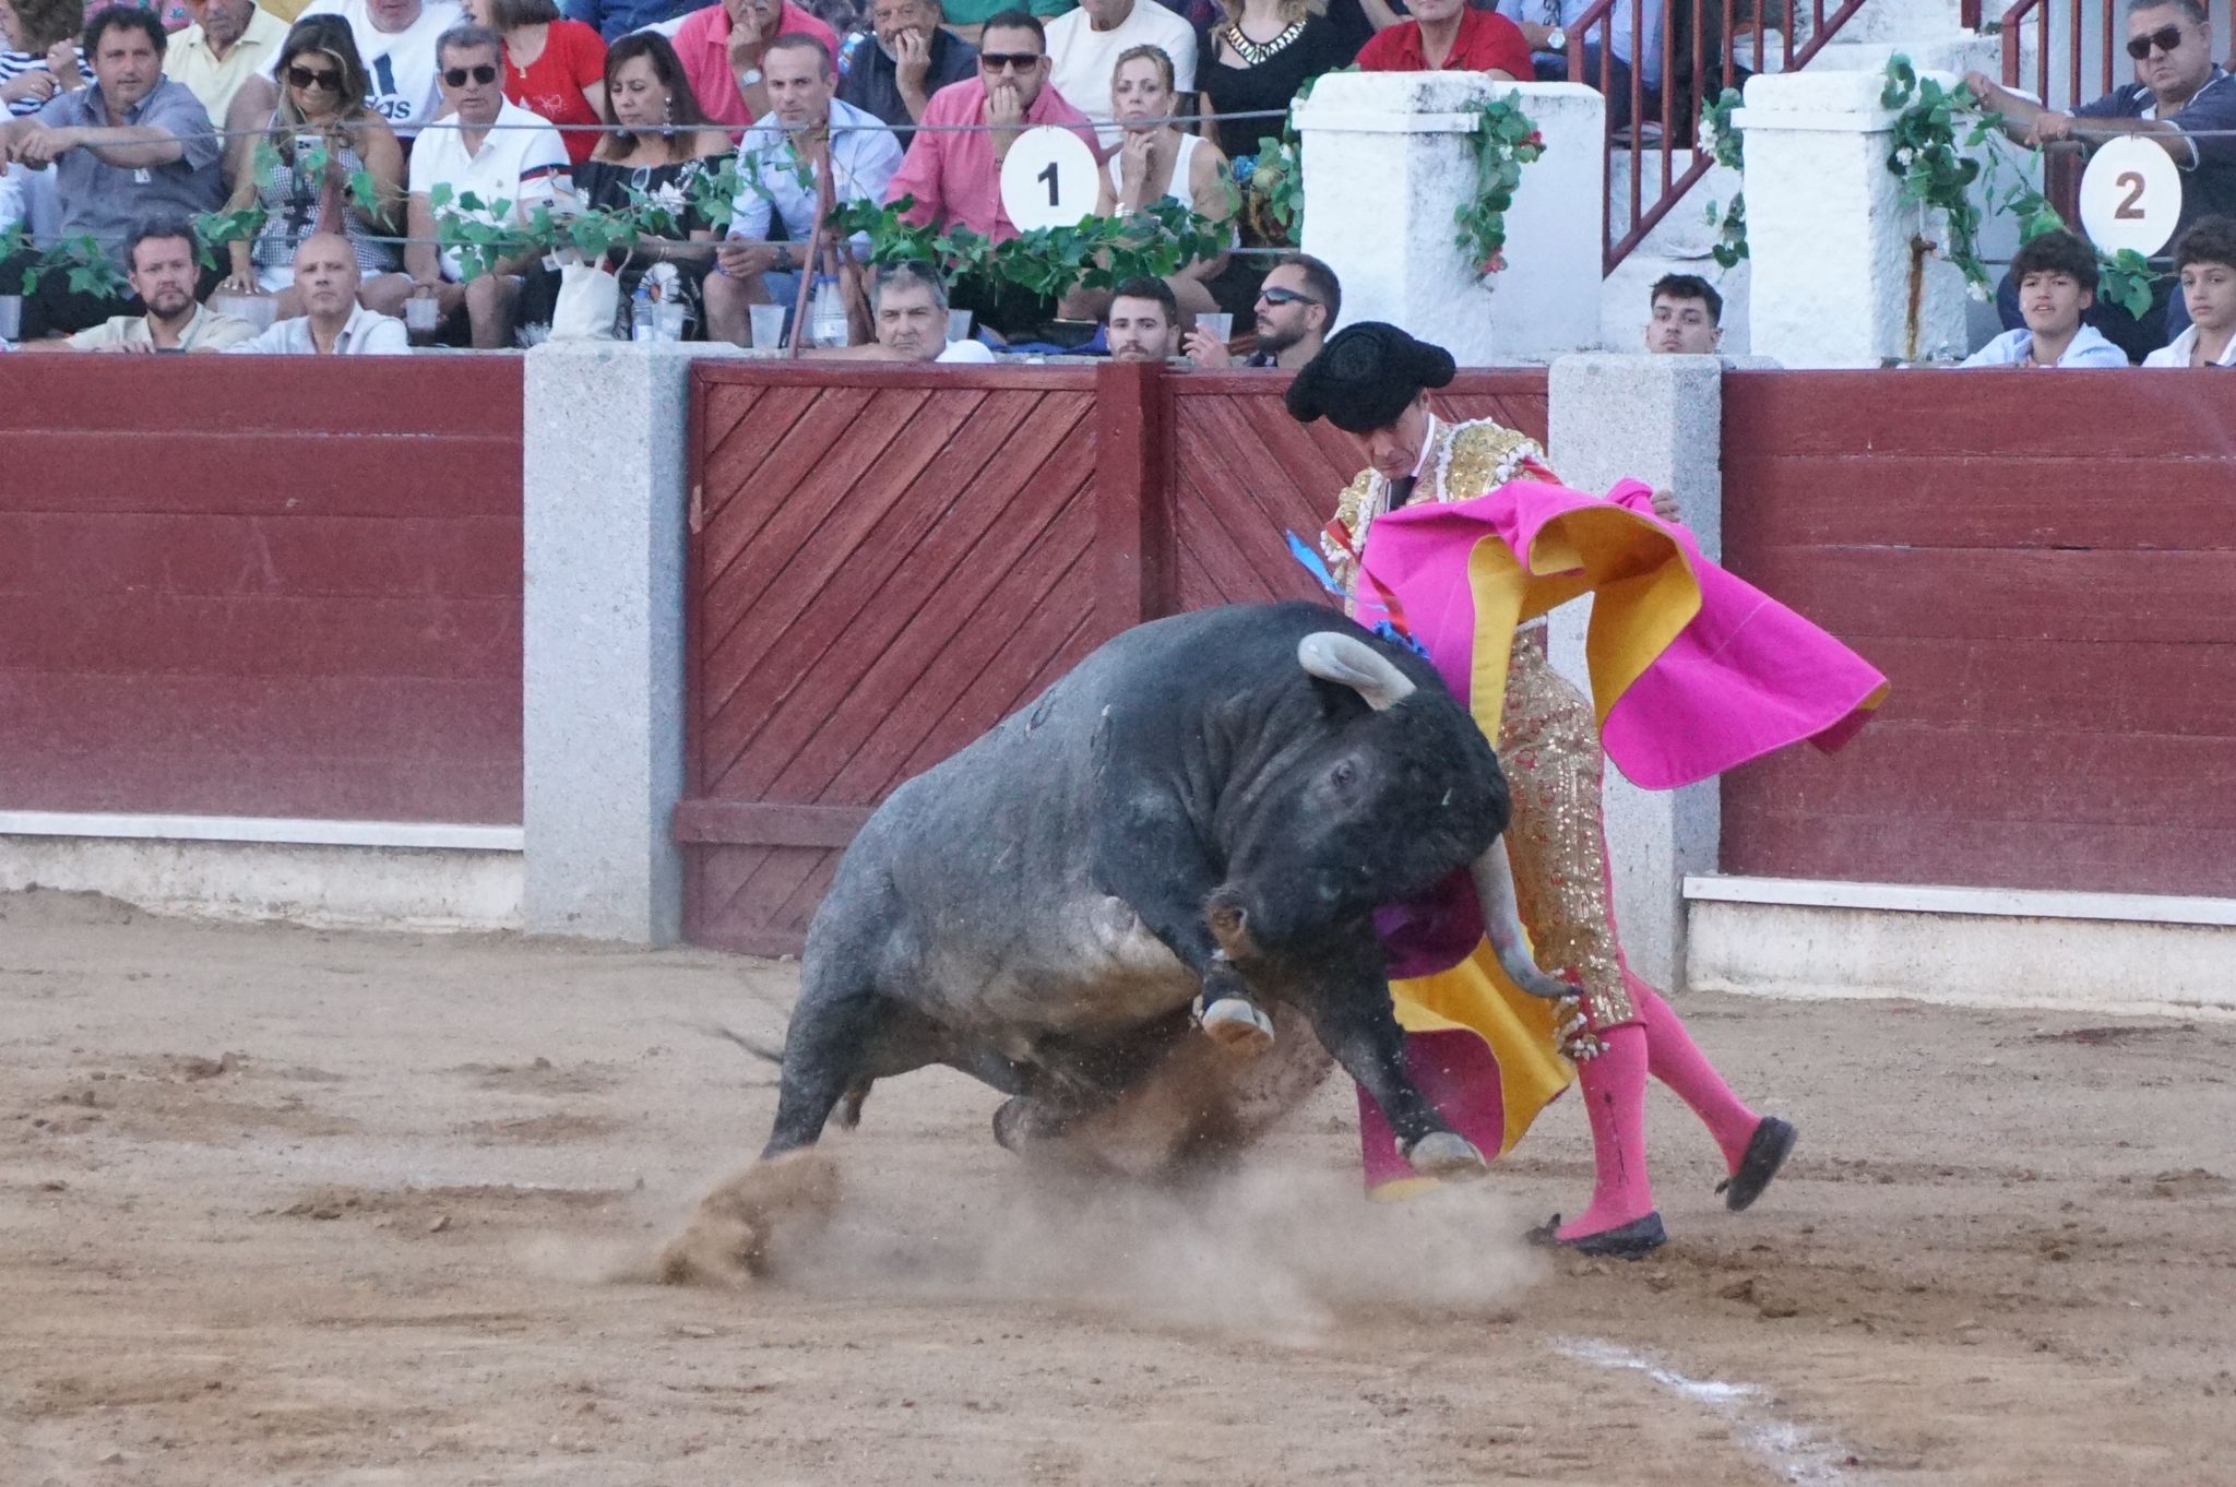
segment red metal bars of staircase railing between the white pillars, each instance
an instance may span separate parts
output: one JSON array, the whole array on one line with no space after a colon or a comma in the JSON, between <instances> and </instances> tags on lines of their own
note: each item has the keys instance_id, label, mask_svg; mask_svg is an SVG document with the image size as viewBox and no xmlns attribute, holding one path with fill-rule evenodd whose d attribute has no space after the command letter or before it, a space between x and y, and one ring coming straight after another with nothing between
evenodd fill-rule
<instances>
[{"instance_id":1,"label":"red metal bars of staircase railing between the white pillars","mask_svg":"<svg viewBox=\"0 0 2236 1487\"><path fill-rule=\"evenodd\" d=\"M1608 181L1614 181L1617 157L1628 157L1630 165L1623 233L1614 230L1612 199L1601 212L1601 273L1614 273L1708 174L1715 161L1695 150L1702 105L1746 76L1771 69L1773 58L1778 72L1807 65L1865 0L1666 0L1661 56L1652 78L1614 56L1617 4L1619 0L1594 0L1567 27L1567 80L1585 83L1608 98ZM1646 56L1646 7L1632 4L1628 22L1628 56ZM1617 69L1628 74L1621 83ZM1619 114L1628 119L1626 125L1614 123ZM1688 157L1681 165L1679 154Z\"/></svg>"}]
</instances>

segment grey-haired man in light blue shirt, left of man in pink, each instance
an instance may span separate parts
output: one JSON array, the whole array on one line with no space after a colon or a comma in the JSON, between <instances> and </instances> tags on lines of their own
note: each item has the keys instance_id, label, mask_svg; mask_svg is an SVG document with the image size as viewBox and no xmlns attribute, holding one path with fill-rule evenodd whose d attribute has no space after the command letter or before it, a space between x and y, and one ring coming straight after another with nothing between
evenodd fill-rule
<instances>
[{"instance_id":1,"label":"grey-haired man in light blue shirt, left of man in pink","mask_svg":"<svg viewBox=\"0 0 2236 1487\"><path fill-rule=\"evenodd\" d=\"M771 286L769 275L789 275L803 264L785 241L807 244L816 224L816 186L830 170L834 201L883 201L885 183L901 168L901 145L883 121L832 96L830 51L812 36L778 36L769 42L767 87L771 116L745 132L738 148L738 199L729 237L707 277L707 333L742 347L749 304L769 304L789 284ZM805 179L803 179L805 177Z\"/></svg>"}]
</instances>

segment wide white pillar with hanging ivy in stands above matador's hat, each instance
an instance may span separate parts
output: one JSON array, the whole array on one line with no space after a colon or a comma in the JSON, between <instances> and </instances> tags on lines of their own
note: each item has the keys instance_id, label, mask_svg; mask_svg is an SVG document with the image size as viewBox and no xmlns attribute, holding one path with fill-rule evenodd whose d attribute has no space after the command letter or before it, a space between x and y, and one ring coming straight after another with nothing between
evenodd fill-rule
<instances>
[{"instance_id":1,"label":"wide white pillar with hanging ivy in stands above matador's hat","mask_svg":"<svg viewBox=\"0 0 2236 1487\"><path fill-rule=\"evenodd\" d=\"M1545 136L1507 208L1507 266L1485 282L1453 212L1476 195L1474 114L1518 94ZM1462 367L1547 362L1599 344L1605 103L1579 83L1474 72L1330 72L1297 110L1304 250L1344 286L1344 324L1386 320Z\"/></svg>"}]
</instances>

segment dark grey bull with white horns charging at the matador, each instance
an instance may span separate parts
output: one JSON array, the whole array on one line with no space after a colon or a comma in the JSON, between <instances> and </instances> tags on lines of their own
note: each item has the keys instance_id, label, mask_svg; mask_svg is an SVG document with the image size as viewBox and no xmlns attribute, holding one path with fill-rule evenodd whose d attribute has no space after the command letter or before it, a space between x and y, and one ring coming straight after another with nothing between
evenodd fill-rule
<instances>
[{"instance_id":1,"label":"dark grey bull with white horns charging at the matador","mask_svg":"<svg viewBox=\"0 0 2236 1487\"><path fill-rule=\"evenodd\" d=\"M1418 655L1315 604L1158 619L908 780L807 930L765 1156L872 1080L953 1064L1013 1096L997 1134L1122 1098L1178 1040L1259 1042L1286 1004L1386 1111L1415 1169L1482 1156L1404 1064L1373 910L1474 868L1509 975L1509 803ZM1201 997L1201 1000L1198 1000Z\"/></svg>"}]
</instances>

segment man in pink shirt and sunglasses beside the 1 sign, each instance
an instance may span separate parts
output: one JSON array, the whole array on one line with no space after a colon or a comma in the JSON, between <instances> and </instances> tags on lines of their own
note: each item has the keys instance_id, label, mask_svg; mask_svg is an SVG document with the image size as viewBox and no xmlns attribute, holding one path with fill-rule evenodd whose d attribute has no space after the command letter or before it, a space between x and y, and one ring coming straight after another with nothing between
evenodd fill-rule
<instances>
[{"instance_id":1,"label":"man in pink shirt and sunglasses beside the 1 sign","mask_svg":"<svg viewBox=\"0 0 2236 1487\"><path fill-rule=\"evenodd\" d=\"M979 123L993 130L941 130ZM1087 141L1102 159L1096 127L1049 87L1049 42L1040 18L1002 11L979 34L979 76L948 83L923 105L908 159L885 186L885 201L915 197L903 212L912 226L961 224L995 241L1017 235L1002 210L1002 159L1024 130L1053 123Z\"/></svg>"}]
</instances>

